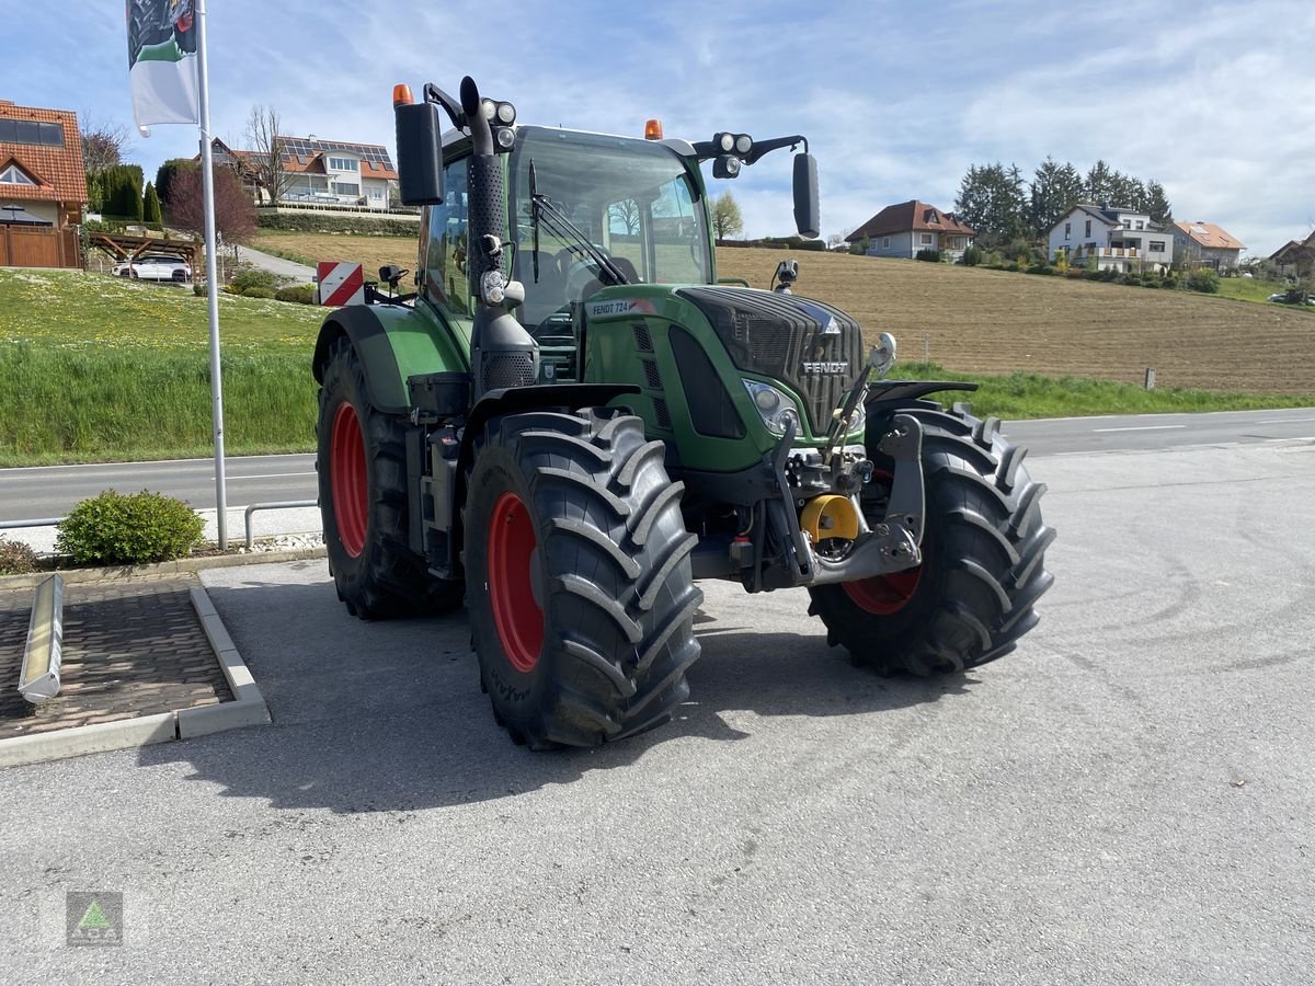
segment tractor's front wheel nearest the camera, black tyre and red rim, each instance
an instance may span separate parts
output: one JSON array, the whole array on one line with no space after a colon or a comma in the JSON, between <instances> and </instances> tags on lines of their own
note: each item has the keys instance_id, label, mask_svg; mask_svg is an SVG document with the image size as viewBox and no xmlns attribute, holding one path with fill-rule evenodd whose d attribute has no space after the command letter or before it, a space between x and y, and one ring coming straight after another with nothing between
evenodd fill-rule
<instances>
[{"instance_id":1,"label":"tractor's front wheel nearest the camera, black tyre and red rim","mask_svg":"<svg viewBox=\"0 0 1315 986\"><path fill-rule=\"evenodd\" d=\"M689 695L702 593L681 484L643 422L531 413L485 427L466 506L467 610L494 719L533 748L593 747Z\"/></svg>"}]
</instances>

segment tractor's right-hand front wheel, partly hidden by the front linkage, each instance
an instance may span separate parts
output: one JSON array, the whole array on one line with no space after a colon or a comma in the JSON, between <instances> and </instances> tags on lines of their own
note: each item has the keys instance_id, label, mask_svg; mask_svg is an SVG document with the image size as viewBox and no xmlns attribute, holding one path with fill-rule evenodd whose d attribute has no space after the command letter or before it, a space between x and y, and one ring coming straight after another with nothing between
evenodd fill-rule
<instances>
[{"instance_id":1,"label":"tractor's right-hand front wheel, partly hidden by the front linkage","mask_svg":"<svg viewBox=\"0 0 1315 986\"><path fill-rule=\"evenodd\" d=\"M1045 571L1055 531L1039 506L1045 486L1032 482L1026 450L1001 438L998 419L957 406L898 410L923 427L923 564L810 589L809 611L826 623L828 643L881 672L959 672L1003 657L1036 626L1034 606L1055 581ZM863 506L877 522L889 489L880 480L884 458L874 447L868 452L878 479Z\"/></svg>"}]
</instances>

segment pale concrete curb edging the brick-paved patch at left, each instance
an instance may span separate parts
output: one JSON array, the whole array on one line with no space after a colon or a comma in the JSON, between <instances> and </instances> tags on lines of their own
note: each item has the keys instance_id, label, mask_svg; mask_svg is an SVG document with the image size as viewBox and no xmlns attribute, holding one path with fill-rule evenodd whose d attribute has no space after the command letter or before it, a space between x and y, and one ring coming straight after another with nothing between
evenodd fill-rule
<instances>
[{"instance_id":1,"label":"pale concrete curb edging the brick-paved patch at left","mask_svg":"<svg viewBox=\"0 0 1315 986\"><path fill-rule=\"evenodd\" d=\"M322 550L320 551L322 552ZM313 556L304 555L304 552L268 553ZM249 556L239 555L238 557ZM272 718L270 707L264 703L264 695L260 694L260 688L255 684L251 670L242 660L242 655L238 653L238 648L233 643L233 638L229 636L210 597L204 588L197 588L191 590L191 599L196 617L201 622L201 630L205 632L205 639L224 670L229 690L233 692L234 701L142 715L134 719L75 726L68 730L53 730L32 736L0 739L0 768L42 764L50 760L64 760L84 753L104 753L112 749L133 749L155 743L271 723Z\"/></svg>"}]
</instances>

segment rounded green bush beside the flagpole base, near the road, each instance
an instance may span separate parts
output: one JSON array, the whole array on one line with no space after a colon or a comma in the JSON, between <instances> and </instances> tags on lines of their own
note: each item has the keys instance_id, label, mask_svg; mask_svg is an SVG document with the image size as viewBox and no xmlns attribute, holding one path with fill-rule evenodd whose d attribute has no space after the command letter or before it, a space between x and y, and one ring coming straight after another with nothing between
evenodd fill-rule
<instances>
[{"instance_id":1,"label":"rounded green bush beside the flagpole base, near the road","mask_svg":"<svg viewBox=\"0 0 1315 986\"><path fill-rule=\"evenodd\" d=\"M139 565L191 553L201 542L201 518L181 500L142 490L107 489L68 511L55 551L79 565Z\"/></svg>"}]
</instances>

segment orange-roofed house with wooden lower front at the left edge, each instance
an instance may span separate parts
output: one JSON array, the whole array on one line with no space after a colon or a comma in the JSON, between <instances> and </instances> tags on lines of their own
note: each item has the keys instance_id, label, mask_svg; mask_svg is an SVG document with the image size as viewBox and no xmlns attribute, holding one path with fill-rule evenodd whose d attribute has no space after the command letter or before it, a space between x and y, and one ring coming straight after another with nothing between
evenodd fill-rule
<instances>
[{"instance_id":1,"label":"orange-roofed house with wooden lower front at the left edge","mask_svg":"<svg viewBox=\"0 0 1315 986\"><path fill-rule=\"evenodd\" d=\"M0 100L0 267L82 267L78 114Z\"/></svg>"}]
</instances>

